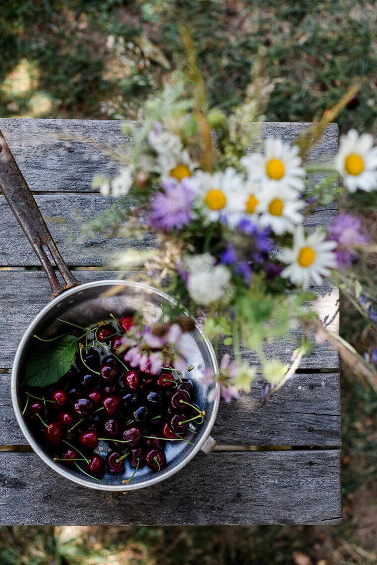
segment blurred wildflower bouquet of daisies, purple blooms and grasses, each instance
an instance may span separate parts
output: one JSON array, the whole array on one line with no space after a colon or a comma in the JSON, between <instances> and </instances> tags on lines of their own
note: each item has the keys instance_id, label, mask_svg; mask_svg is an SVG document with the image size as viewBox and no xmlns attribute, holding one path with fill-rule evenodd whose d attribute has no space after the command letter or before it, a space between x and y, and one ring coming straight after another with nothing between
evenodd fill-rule
<instances>
[{"instance_id":1,"label":"blurred wildflower bouquet of daisies, purple blooms and grasses","mask_svg":"<svg viewBox=\"0 0 377 565\"><path fill-rule=\"evenodd\" d=\"M203 375L219 381L226 401L250 390L255 377L256 368L241 359L241 344L255 351L262 364L269 383L263 401L296 371L313 334L317 340L330 339L345 358L375 375L352 347L323 328L311 306L324 279L343 285L356 302L361 295L364 302L369 299L351 271L370 245L369 237L347 212L327 229L304 227L317 205L344 194L351 206L352 196L361 191L375 202L377 147L371 135L349 131L331 163L306 159L352 89L293 145L274 138L262 144L258 123L273 85L260 73L254 72L245 103L228 117L207 107L193 56L187 76L189 81L176 80L148 101L142 125L122 125L135 141L133 153L120 156L119 174L93 179L102 194L120 198L107 214L106 229L111 224L113 234L139 240L154 236L152 248L143 250L139 244L119 251L117 266L141 265L139 280L174 296L202 324L215 348L232 347L220 362L219 375ZM246 153L246 147L252 150ZM372 311L367 315L372 320ZM171 324L179 312L172 309L164 316ZM263 346L281 337L293 341L292 329L300 324L304 337L298 348L292 346L291 367L267 358Z\"/></svg>"}]
</instances>

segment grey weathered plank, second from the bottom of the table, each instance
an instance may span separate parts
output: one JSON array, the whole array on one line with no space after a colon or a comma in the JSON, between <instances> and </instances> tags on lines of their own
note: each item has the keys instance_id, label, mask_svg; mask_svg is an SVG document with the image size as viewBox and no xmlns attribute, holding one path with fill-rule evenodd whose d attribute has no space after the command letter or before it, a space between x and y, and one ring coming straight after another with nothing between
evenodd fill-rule
<instances>
[{"instance_id":1,"label":"grey weathered plank, second from the bottom of the table","mask_svg":"<svg viewBox=\"0 0 377 565\"><path fill-rule=\"evenodd\" d=\"M221 403L213 437L219 445L341 445L337 373L298 373L265 406L261 376L251 394ZM0 374L0 445L25 445L10 398L10 374Z\"/></svg>"}]
</instances>

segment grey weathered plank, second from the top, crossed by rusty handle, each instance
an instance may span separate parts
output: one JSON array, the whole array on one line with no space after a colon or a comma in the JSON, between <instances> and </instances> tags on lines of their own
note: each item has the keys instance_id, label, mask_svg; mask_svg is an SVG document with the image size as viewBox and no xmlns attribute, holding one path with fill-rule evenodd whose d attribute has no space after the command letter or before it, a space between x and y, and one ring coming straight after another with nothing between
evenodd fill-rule
<instances>
[{"instance_id":1,"label":"grey weathered plank, second from the top, crossed by rusty handle","mask_svg":"<svg viewBox=\"0 0 377 565\"><path fill-rule=\"evenodd\" d=\"M98 236L77 246L80 229L93 216L106 210L114 199L99 194L49 194L37 195L36 201L46 219L50 232L66 263L75 266L100 266L110 260L120 247L134 246L145 249L153 245L153 237L143 241L124 241ZM316 210L306 220L308 229L326 226L335 218L336 210ZM0 195L0 266L39 266L38 259L15 219L6 199Z\"/></svg>"}]
</instances>

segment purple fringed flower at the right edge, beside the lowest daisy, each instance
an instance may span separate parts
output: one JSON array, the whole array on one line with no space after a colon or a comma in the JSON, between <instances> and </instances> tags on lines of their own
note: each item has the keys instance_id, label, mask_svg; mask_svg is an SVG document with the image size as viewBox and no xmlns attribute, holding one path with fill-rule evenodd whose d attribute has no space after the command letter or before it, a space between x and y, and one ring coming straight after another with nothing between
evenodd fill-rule
<instances>
[{"instance_id":1,"label":"purple fringed flower at the right edge, beside the lowest daisy","mask_svg":"<svg viewBox=\"0 0 377 565\"><path fill-rule=\"evenodd\" d=\"M346 212L339 214L330 224L328 240L336 241L338 244L334 253L339 267L350 265L352 259L357 257L355 245L369 243L369 238L362 232L361 221Z\"/></svg>"}]
</instances>

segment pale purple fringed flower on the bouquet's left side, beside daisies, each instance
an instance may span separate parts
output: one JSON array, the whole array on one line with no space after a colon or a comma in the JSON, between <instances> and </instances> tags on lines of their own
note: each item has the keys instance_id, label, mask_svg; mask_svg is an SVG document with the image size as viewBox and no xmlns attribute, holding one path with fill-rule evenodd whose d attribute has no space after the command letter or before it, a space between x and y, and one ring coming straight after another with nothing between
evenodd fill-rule
<instances>
[{"instance_id":1,"label":"pale purple fringed flower on the bouquet's left side, beside daisies","mask_svg":"<svg viewBox=\"0 0 377 565\"><path fill-rule=\"evenodd\" d=\"M192 219L192 203L194 191L190 181L183 179L179 184L175 181L162 182L164 192L154 195L151 201L150 224L157 229L168 232L181 229Z\"/></svg>"}]
</instances>

